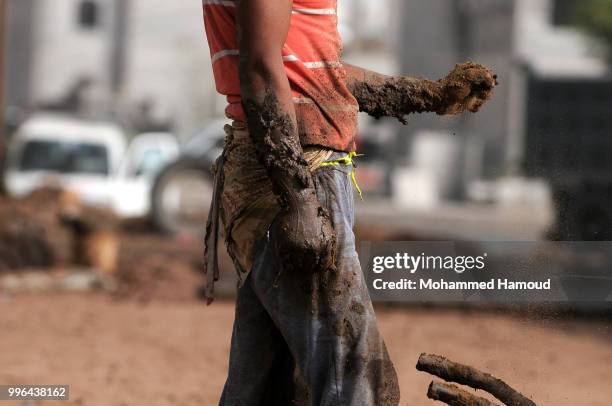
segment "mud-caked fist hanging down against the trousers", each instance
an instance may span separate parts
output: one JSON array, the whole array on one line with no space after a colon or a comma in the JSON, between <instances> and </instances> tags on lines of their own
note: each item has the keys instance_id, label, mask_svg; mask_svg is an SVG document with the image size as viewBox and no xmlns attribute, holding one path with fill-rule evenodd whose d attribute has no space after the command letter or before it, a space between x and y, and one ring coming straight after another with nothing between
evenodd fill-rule
<instances>
[{"instance_id":1,"label":"mud-caked fist hanging down against the trousers","mask_svg":"<svg viewBox=\"0 0 612 406\"><path fill-rule=\"evenodd\" d=\"M288 202L272 224L270 239L274 253L288 271L335 269L336 233L314 192Z\"/></svg>"}]
</instances>

